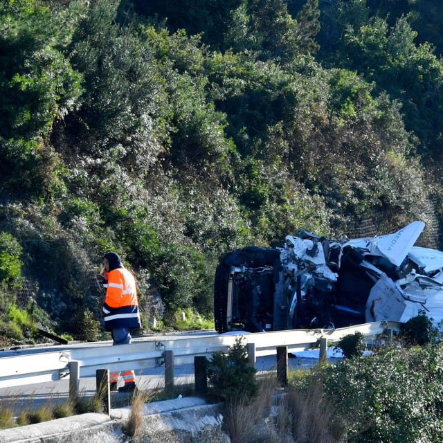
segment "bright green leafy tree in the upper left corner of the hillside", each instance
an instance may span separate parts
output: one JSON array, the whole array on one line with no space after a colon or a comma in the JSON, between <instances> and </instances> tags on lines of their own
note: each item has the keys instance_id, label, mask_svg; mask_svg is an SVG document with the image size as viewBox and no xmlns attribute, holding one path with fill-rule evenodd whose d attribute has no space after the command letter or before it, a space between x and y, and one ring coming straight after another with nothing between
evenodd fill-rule
<instances>
[{"instance_id":1,"label":"bright green leafy tree in the upper left corner of the hillside","mask_svg":"<svg viewBox=\"0 0 443 443\"><path fill-rule=\"evenodd\" d=\"M46 138L80 95L80 75L55 48L53 22L32 0L0 5L0 188L16 198L43 195L53 182L57 161Z\"/></svg>"}]
</instances>

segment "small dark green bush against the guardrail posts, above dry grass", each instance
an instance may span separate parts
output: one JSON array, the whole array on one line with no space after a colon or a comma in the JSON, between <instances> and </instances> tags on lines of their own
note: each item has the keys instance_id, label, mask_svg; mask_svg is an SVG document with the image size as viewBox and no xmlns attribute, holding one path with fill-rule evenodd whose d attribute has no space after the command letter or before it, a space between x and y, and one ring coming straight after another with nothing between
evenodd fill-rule
<instances>
[{"instance_id":1,"label":"small dark green bush against the guardrail posts, above dry grass","mask_svg":"<svg viewBox=\"0 0 443 443\"><path fill-rule=\"evenodd\" d=\"M242 345L241 338L236 339L228 354L215 352L208 361L208 378L217 396L228 404L248 404L255 398L258 392L256 372L248 365L246 347Z\"/></svg>"}]
</instances>

